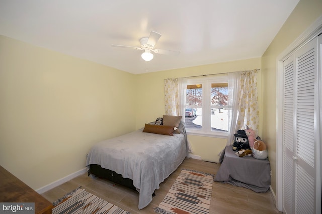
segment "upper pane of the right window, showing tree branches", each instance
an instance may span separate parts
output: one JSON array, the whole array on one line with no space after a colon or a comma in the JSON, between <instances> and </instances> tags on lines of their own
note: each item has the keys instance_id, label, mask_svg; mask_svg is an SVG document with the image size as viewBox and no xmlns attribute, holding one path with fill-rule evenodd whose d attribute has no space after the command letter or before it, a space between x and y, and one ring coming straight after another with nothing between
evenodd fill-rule
<instances>
[{"instance_id":1,"label":"upper pane of the right window, showing tree branches","mask_svg":"<svg viewBox=\"0 0 322 214\"><path fill-rule=\"evenodd\" d=\"M211 84L211 106L228 105L228 83Z\"/></svg>"}]
</instances>

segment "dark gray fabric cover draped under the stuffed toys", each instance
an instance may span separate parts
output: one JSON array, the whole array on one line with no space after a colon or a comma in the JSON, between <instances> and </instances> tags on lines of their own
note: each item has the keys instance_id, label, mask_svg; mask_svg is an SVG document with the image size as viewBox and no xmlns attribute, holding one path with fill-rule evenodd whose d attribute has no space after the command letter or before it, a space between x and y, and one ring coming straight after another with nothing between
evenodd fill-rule
<instances>
[{"instance_id":1,"label":"dark gray fabric cover draped under the stuffed toys","mask_svg":"<svg viewBox=\"0 0 322 214\"><path fill-rule=\"evenodd\" d=\"M245 187L254 192L267 192L271 184L270 162L254 157L238 157L232 146L226 146L214 181Z\"/></svg>"}]
</instances>

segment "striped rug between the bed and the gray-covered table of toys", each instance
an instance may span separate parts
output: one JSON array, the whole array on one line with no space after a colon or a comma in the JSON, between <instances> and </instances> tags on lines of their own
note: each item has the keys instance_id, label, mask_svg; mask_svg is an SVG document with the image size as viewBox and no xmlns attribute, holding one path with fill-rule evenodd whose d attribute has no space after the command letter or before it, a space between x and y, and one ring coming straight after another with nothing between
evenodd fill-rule
<instances>
[{"instance_id":1,"label":"striped rug between the bed and the gray-covered table of toys","mask_svg":"<svg viewBox=\"0 0 322 214\"><path fill-rule=\"evenodd\" d=\"M213 175L182 169L154 212L162 214L209 213Z\"/></svg>"}]
</instances>

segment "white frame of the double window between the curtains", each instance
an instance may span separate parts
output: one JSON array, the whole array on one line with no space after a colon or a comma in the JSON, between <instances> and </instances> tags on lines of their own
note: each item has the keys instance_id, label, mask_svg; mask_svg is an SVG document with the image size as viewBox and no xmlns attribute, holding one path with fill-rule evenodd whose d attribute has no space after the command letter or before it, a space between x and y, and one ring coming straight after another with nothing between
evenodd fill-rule
<instances>
[{"instance_id":1,"label":"white frame of the double window between the curtains","mask_svg":"<svg viewBox=\"0 0 322 214\"><path fill-rule=\"evenodd\" d=\"M228 132L225 131L212 131L211 130L211 84L212 83L228 83L228 75L220 75L215 77L197 77L187 80L187 85L202 84L202 105L198 106L202 108L202 129L189 129L186 127L186 131L190 135L200 135L217 138L227 138ZM186 108L195 106L186 106ZM228 108L232 106L228 106ZM230 126L228 126L230 128Z\"/></svg>"}]
</instances>

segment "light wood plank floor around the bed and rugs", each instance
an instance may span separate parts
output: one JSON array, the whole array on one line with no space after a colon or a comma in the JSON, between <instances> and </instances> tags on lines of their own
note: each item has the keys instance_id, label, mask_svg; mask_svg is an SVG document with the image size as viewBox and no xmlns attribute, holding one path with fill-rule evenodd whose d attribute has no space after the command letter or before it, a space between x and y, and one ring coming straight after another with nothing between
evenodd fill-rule
<instances>
[{"instance_id":1,"label":"light wood plank floor around the bed and rugs","mask_svg":"<svg viewBox=\"0 0 322 214\"><path fill-rule=\"evenodd\" d=\"M178 169L171 174L156 190L153 201L144 209L138 210L138 193L134 190L117 185L101 178L90 178L86 174L80 175L56 188L42 194L47 200L54 202L63 197L66 193L82 186L82 189L103 198L104 200L117 205L132 214L154 213L153 208L157 207L163 200L173 182L179 175L181 169L193 169L206 173L216 174L220 164L210 163L202 160L186 158ZM231 213L282 213L275 208L271 192L255 193L252 190L236 187L230 184L213 182L210 213L231 214ZM155 213L154 213L155 214Z\"/></svg>"}]
</instances>

